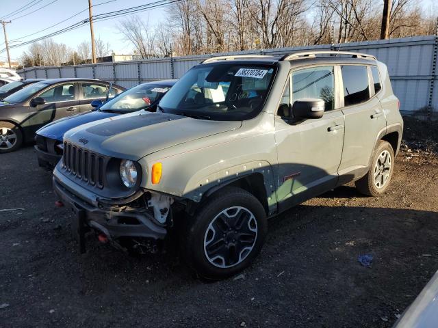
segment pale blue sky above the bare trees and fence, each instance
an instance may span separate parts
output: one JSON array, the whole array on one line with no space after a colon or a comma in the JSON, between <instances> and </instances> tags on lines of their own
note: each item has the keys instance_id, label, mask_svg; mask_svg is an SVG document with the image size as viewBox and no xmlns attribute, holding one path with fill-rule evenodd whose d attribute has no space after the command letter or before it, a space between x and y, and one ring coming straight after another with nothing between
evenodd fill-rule
<instances>
[{"instance_id":1,"label":"pale blue sky above the bare trees and fence","mask_svg":"<svg viewBox=\"0 0 438 328\"><path fill-rule=\"evenodd\" d=\"M44 36L53 31L62 29L80 20L88 18L88 0L34 0L35 2L40 1L29 10L25 10L16 16L10 16L5 20L12 20L11 24L6 25L8 31L8 40L10 40L10 45L24 42L27 40L32 40L38 36ZM108 2L109 1L109 2ZM114 10L121 10L125 8L134 7L137 5L144 5L146 3L151 3L154 0L93 0L93 14L103 14L105 12L112 12ZM421 0L417 1L422 8L431 8L432 3L435 0ZM10 12L14 12L19 8L27 5L31 0L0 0L0 18ZM53 3L51 3L53 2ZM102 4L101 4L102 3ZM23 18L19 18L24 14L27 14L33 10L36 10L44 5L46 8L39 10L38 12L31 13ZM435 6L434 6L435 7ZM30 33L40 31L45 29L55 23L58 23L81 10L86 10L83 13L75 16L66 22L61 23L47 31L42 31L34 36L27 36ZM159 25L159 23L165 19L166 7L156 8L146 12L141 12L139 14L145 19L149 20L149 25ZM16 18L16 19L14 19ZM109 42L111 50L117 54L131 54L133 52L133 47L123 41L123 36L120 35L118 31L117 24L120 20L129 18L129 16L124 16L120 18L114 18L110 20L96 21L94 23L94 36L96 38L101 38L105 42ZM82 27L75 29L73 31L68 31L60 36L53 37L56 42L63 42L73 49L77 48L77 45L84 40L90 40L90 25L84 24ZM0 50L4 48L3 31L0 30ZM23 51L27 49L27 46L18 47L10 50L10 55L12 59L18 59L21 57ZM0 53L0 61L6 59L6 52Z\"/></svg>"}]
</instances>

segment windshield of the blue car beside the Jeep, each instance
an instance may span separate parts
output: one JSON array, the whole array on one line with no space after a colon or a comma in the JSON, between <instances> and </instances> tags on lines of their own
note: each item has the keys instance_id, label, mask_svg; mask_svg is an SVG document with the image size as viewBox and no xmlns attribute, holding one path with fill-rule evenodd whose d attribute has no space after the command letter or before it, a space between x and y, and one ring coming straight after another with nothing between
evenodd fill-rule
<instances>
[{"instance_id":1,"label":"windshield of the blue car beside the Jeep","mask_svg":"<svg viewBox=\"0 0 438 328\"><path fill-rule=\"evenodd\" d=\"M102 105L101 111L123 111L130 113L155 105L170 89L167 85L145 84L137 85Z\"/></svg>"}]
</instances>

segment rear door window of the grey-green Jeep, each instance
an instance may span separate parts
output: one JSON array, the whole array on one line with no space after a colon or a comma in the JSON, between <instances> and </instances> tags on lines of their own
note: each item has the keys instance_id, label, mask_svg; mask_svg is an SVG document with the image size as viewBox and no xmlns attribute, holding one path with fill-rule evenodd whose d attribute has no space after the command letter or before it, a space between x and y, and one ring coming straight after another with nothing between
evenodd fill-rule
<instances>
[{"instance_id":1,"label":"rear door window of the grey-green Jeep","mask_svg":"<svg viewBox=\"0 0 438 328\"><path fill-rule=\"evenodd\" d=\"M370 99L366 66L341 66L344 82L344 106L360 104Z\"/></svg>"}]
</instances>

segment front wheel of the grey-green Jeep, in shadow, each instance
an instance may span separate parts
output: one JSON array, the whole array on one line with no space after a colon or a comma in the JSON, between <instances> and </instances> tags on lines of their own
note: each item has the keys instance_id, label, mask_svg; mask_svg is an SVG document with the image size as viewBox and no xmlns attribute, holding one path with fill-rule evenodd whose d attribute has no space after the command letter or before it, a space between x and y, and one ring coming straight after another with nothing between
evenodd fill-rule
<instances>
[{"instance_id":1,"label":"front wheel of the grey-green Jeep, in shadow","mask_svg":"<svg viewBox=\"0 0 438 328\"><path fill-rule=\"evenodd\" d=\"M189 221L183 256L206 279L227 278L248 267L268 232L259 200L235 187L216 192Z\"/></svg>"}]
</instances>

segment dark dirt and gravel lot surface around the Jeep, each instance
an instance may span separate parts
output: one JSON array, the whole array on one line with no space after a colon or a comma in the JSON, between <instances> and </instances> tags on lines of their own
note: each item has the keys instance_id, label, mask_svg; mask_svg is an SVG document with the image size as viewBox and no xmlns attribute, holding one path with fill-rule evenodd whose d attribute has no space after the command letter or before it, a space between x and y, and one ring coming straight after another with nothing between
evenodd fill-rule
<instances>
[{"instance_id":1,"label":"dark dirt and gravel lot surface around the Jeep","mask_svg":"<svg viewBox=\"0 0 438 328\"><path fill-rule=\"evenodd\" d=\"M252 267L214 283L177 256L94 239L79 255L33 148L2 154L0 210L22 209L0 212L0 327L391 327L438 269L438 159L412 148L415 124L386 195L346 186L289 210Z\"/></svg>"}]
</instances>

